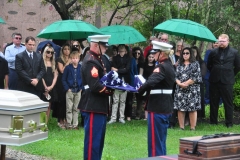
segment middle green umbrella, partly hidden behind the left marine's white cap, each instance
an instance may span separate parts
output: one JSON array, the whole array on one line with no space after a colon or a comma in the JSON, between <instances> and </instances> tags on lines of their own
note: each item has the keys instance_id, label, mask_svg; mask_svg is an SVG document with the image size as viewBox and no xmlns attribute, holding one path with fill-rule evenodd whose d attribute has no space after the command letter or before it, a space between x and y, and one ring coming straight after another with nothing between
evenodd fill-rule
<instances>
[{"instance_id":1,"label":"middle green umbrella, partly hidden behind the left marine's white cap","mask_svg":"<svg viewBox=\"0 0 240 160\"><path fill-rule=\"evenodd\" d=\"M100 30L104 34L111 35L108 43L112 44L134 44L144 42L146 39L135 28L123 25L112 25L102 27Z\"/></svg>"}]
</instances>

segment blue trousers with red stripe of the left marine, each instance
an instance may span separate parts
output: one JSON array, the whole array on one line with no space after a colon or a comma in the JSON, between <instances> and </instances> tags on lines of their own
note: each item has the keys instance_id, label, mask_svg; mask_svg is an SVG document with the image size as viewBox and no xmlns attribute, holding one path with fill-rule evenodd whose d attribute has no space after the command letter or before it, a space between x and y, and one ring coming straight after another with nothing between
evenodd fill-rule
<instances>
[{"instance_id":1,"label":"blue trousers with red stripe of the left marine","mask_svg":"<svg viewBox=\"0 0 240 160\"><path fill-rule=\"evenodd\" d=\"M82 112L84 118L84 160L101 160L107 115Z\"/></svg>"}]
</instances>

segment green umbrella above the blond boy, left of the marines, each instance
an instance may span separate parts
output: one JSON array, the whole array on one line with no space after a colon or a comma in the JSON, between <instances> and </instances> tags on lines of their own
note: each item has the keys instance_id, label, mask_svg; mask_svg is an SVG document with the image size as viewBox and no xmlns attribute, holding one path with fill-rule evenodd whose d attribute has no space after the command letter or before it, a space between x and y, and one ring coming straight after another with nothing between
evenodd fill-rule
<instances>
[{"instance_id":1,"label":"green umbrella above the blond boy, left of the marines","mask_svg":"<svg viewBox=\"0 0 240 160\"><path fill-rule=\"evenodd\" d=\"M90 23L79 20L56 21L44 28L37 37L46 39L85 39L95 34L103 34Z\"/></svg>"}]
</instances>

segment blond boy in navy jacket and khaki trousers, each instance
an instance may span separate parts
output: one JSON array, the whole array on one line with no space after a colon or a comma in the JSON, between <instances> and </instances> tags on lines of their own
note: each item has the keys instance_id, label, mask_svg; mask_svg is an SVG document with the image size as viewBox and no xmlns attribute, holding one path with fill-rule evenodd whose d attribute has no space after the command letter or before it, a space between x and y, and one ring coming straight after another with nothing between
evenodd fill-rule
<instances>
[{"instance_id":1,"label":"blond boy in navy jacket and khaki trousers","mask_svg":"<svg viewBox=\"0 0 240 160\"><path fill-rule=\"evenodd\" d=\"M80 74L79 52L70 54L71 64L63 72L62 83L66 91L67 129L78 129L78 103L81 98L82 78Z\"/></svg>"}]
</instances>

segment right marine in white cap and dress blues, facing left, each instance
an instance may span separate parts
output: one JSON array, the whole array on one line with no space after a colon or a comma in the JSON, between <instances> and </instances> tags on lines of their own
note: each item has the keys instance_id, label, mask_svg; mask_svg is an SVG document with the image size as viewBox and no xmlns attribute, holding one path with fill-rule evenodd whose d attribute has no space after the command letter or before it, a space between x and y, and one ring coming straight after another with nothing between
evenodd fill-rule
<instances>
[{"instance_id":1,"label":"right marine in white cap and dress blues, facing left","mask_svg":"<svg viewBox=\"0 0 240 160\"><path fill-rule=\"evenodd\" d=\"M150 90L148 111L148 156L166 155L166 139L169 118L172 114L172 88L175 81L174 67L168 59L172 46L152 41L155 60L158 61L153 73L140 87L139 94Z\"/></svg>"}]
</instances>

